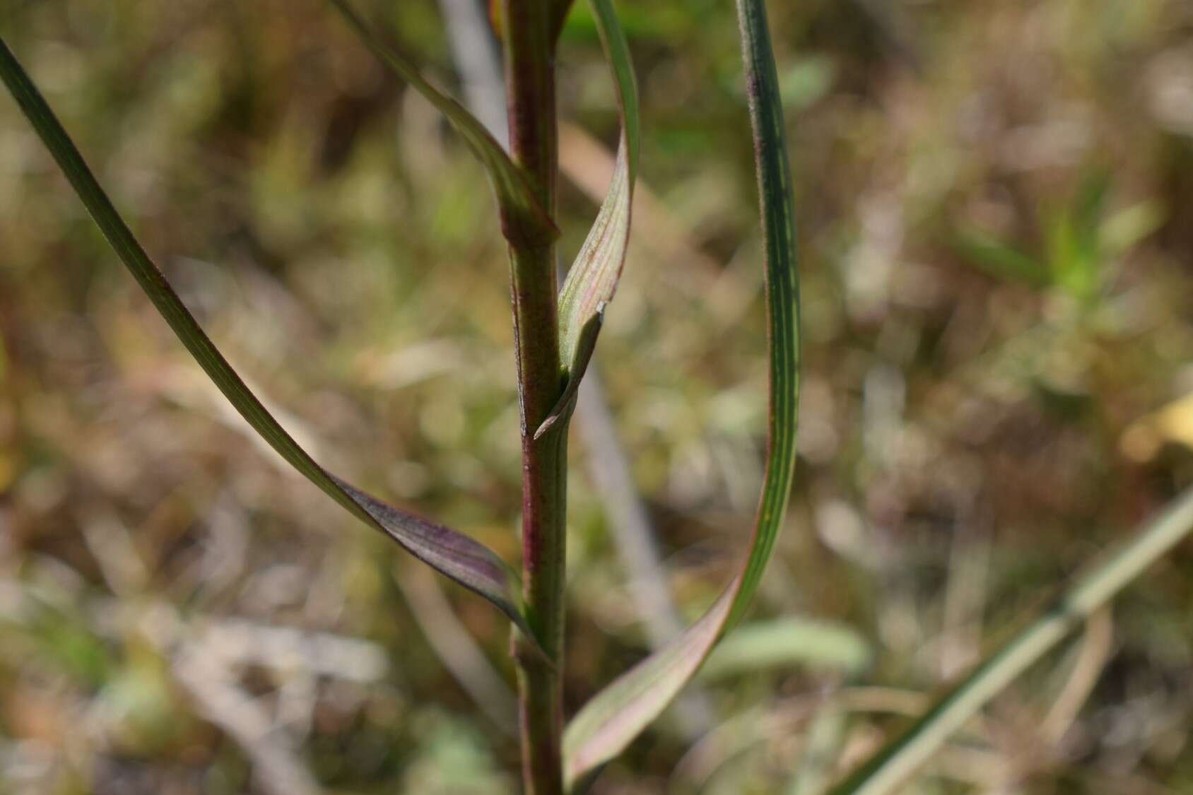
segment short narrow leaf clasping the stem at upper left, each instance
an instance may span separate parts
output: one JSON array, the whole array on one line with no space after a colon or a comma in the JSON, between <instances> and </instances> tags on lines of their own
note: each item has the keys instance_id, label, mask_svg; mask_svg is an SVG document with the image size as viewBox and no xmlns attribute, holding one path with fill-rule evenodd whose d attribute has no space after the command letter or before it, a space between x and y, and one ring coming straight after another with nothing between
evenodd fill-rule
<instances>
[{"instance_id":1,"label":"short narrow leaf clasping the stem at upper left","mask_svg":"<svg viewBox=\"0 0 1193 795\"><path fill-rule=\"evenodd\" d=\"M501 210L501 230L506 239L523 246L550 242L560 230L550 214L538 201L538 195L526 172L509 158L501 143L493 137L475 116L463 105L428 82L418 67L401 53L385 44L372 29L352 10L347 0L328 0L344 17L348 26L360 37L385 66L406 80L441 112L493 180Z\"/></svg>"}]
</instances>

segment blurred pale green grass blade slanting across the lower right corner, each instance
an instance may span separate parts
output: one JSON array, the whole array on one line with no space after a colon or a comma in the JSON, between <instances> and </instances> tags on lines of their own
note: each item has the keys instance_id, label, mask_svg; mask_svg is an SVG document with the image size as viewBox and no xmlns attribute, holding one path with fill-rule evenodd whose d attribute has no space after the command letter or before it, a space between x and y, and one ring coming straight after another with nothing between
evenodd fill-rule
<instances>
[{"instance_id":1,"label":"blurred pale green grass blade slanting across the lower right corner","mask_svg":"<svg viewBox=\"0 0 1193 795\"><path fill-rule=\"evenodd\" d=\"M883 795L895 790L1003 688L1189 531L1193 531L1193 488L1101 565L1078 577L1050 610L988 657L922 717L835 787L832 795Z\"/></svg>"}]
</instances>

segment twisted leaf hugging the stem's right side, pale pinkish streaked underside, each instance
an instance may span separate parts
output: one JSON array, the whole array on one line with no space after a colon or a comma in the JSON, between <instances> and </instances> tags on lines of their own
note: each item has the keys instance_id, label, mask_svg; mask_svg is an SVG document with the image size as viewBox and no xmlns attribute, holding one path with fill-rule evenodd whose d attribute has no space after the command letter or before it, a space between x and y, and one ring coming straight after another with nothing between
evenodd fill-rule
<instances>
[{"instance_id":1,"label":"twisted leaf hugging the stem's right side, pale pinkish streaked underside","mask_svg":"<svg viewBox=\"0 0 1193 795\"><path fill-rule=\"evenodd\" d=\"M613 68L622 107L622 135L608 192L560 290L560 360L568 370L568 383L563 399L538 427L536 438L560 419L580 388L580 380L596 345L601 314L617 291L630 245L630 214L641 138L638 85L630 60L630 45L611 0L592 0L592 8L605 54Z\"/></svg>"}]
</instances>

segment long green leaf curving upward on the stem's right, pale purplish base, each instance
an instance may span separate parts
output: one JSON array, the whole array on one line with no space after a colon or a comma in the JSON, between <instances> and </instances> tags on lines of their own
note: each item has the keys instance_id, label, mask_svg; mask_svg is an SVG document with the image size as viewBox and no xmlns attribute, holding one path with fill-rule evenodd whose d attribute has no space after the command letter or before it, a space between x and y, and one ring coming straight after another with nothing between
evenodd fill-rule
<instances>
[{"instance_id":1,"label":"long green leaf curving upward on the stem's right, pale purplish base","mask_svg":"<svg viewBox=\"0 0 1193 795\"><path fill-rule=\"evenodd\" d=\"M594 6L600 10L607 2L601 0ZM762 0L738 0L737 13L765 236L771 413L762 495L744 567L712 608L669 645L599 692L568 726L563 738L564 779L573 790L666 709L717 641L741 620L758 590L786 513L796 463L799 402L795 201L766 10Z\"/></svg>"}]
</instances>

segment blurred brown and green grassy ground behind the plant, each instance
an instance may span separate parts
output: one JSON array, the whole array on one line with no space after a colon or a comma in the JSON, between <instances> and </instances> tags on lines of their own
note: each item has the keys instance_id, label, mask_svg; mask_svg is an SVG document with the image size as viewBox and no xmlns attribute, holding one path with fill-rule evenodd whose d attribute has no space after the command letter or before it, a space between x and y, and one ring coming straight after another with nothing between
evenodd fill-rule
<instances>
[{"instance_id":1,"label":"blurred brown and green grassy ground behind the plant","mask_svg":"<svg viewBox=\"0 0 1193 795\"><path fill-rule=\"evenodd\" d=\"M1193 2L769 5L802 222L793 511L759 623L599 793L818 791L1193 480ZM360 7L459 87L434 0ZM644 187L598 368L690 617L761 479L748 119L733 4L620 8ZM443 119L319 0L6 0L0 31L308 449L515 561L505 251ZM617 135L582 2L560 81L570 257ZM571 708L651 637L610 433L580 426ZM910 791L1193 791L1191 553ZM507 642L253 438L0 100L0 793L515 793Z\"/></svg>"}]
</instances>

